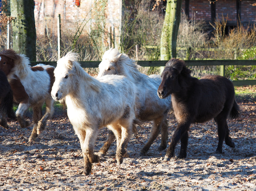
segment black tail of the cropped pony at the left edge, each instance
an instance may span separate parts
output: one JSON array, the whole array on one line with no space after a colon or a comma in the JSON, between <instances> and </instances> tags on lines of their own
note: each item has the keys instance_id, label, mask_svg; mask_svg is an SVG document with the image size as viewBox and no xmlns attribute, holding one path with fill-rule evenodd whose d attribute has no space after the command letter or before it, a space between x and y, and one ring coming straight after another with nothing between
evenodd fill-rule
<instances>
[{"instance_id":1,"label":"black tail of the cropped pony at the left edge","mask_svg":"<svg viewBox=\"0 0 256 191\"><path fill-rule=\"evenodd\" d=\"M13 93L12 89L9 90L7 95L2 99L0 103L0 112L4 115L7 115L9 118L16 118L13 111Z\"/></svg>"}]
</instances>

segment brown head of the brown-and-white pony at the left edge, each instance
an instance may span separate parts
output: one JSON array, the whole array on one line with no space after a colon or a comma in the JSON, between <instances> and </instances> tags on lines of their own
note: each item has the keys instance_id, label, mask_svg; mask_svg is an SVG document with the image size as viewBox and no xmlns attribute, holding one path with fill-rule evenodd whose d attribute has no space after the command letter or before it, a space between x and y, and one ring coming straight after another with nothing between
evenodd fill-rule
<instances>
[{"instance_id":1,"label":"brown head of the brown-and-white pony at the left edge","mask_svg":"<svg viewBox=\"0 0 256 191\"><path fill-rule=\"evenodd\" d=\"M19 63L22 57L13 49L4 49L0 52L0 70L8 75L16 63Z\"/></svg>"}]
</instances>

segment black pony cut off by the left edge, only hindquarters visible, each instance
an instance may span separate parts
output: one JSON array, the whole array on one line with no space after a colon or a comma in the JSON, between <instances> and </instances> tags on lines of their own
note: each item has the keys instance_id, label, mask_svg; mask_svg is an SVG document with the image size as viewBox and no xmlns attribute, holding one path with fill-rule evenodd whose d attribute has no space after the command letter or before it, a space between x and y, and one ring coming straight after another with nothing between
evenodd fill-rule
<instances>
[{"instance_id":1,"label":"black pony cut off by the left edge, only hindquarters visible","mask_svg":"<svg viewBox=\"0 0 256 191\"><path fill-rule=\"evenodd\" d=\"M9 129L6 116L15 118L13 95L5 73L0 70L0 125L5 129Z\"/></svg>"}]
</instances>

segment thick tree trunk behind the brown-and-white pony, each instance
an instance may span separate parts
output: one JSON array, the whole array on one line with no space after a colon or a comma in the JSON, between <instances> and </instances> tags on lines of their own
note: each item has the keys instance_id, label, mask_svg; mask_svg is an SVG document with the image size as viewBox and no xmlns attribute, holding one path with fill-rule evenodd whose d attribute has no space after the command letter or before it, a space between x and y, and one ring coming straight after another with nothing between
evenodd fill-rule
<instances>
[{"instance_id":1,"label":"thick tree trunk behind the brown-and-white pony","mask_svg":"<svg viewBox=\"0 0 256 191\"><path fill-rule=\"evenodd\" d=\"M12 21L13 49L36 61L36 27L34 0L10 0Z\"/></svg>"}]
</instances>

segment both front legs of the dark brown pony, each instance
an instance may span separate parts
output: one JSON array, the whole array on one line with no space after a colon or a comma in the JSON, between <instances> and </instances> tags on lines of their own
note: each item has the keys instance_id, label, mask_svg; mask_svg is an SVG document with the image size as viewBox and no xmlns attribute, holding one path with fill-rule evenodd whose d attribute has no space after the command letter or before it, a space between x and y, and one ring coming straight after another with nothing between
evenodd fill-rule
<instances>
[{"instance_id":1,"label":"both front legs of the dark brown pony","mask_svg":"<svg viewBox=\"0 0 256 191\"><path fill-rule=\"evenodd\" d=\"M178 124L176 130L172 135L171 145L170 147L167 148L167 152L164 157L165 161L168 161L171 159L171 157L173 157L175 147L183 135L185 135L184 137L182 137L183 142L181 143L181 146L182 146L181 149L183 150L183 152L181 152L180 155L184 156L184 152L186 152L186 150L184 150L184 147L187 145L187 142L185 142L185 139L188 138L184 133L187 133L186 131L189 130L190 124L191 123L188 121Z\"/></svg>"}]
</instances>

